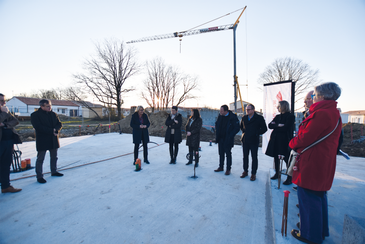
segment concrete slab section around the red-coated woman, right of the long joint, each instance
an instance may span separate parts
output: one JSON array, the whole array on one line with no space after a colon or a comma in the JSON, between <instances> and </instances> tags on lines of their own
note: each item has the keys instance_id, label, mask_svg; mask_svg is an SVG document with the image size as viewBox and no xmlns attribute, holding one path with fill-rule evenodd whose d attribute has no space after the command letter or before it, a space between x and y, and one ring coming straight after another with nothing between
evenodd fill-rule
<instances>
[{"instance_id":1,"label":"concrete slab section around the red-coated woman, right of the long joint","mask_svg":"<svg viewBox=\"0 0 365 244\"><path fill-rule=\"evenodd\" d=\"M332 188L328 191L329 205L329 237L326 237L324 243L341 244L344 227L345 214L365 217L365 159L359 157L350 157L346 160L343 156L337 156L337 165L335 178ZM284 171L285 172L285 171ZM270 169L270 175L274 175L274 169ZM282 175L281 183L285 181L286 175ZM277 188L277 180L271 180L271 190L273 196L274 209L274 226L277 244L289 244L301 242L294 239L290 233L292 229L298 229L296 223L299 222L299 209L295 206L298 204L297 192L292 189L295 185L285 186L280 184ZM288 229L287 237L281 235L281 221L283 214L284 193L283 190L289 190L288 205Z\"/></svg>"}]
</instances>

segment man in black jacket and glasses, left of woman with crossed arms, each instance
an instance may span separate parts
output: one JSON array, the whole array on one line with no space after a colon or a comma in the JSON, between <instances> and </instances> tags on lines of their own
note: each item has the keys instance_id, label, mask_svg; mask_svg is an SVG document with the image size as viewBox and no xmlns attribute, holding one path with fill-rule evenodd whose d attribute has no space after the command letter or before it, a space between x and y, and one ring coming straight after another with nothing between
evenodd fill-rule
<instances>
[{"instance_id":1,"label":"man in black jacket and glasses, left of woman with crossed arms","mask_svg":"<svg viewBox=\"0 0 365 244\"><path fill-rule=\"evenodd\" d=\"M256 171L258 167L258 144L260 143L260 135L267 131L266 122L263 116L258 115L255 112L255 106L252 104L247 105L246 115L241 119L240 129L242 131L242 148L243 148L243 173L241 178L245 178L248 175L248 157L252 157L252 169L251 169L251 181L256 180Z\"/></svg>"}]
</instances>

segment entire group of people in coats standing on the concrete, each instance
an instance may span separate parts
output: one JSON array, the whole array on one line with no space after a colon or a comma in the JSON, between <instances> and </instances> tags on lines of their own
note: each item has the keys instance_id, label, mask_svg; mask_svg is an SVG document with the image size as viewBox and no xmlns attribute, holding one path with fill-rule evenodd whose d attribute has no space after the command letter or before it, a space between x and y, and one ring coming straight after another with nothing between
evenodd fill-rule
<instances>
[{"instance_id":1,"label":"entire group of people in coats standing on the concrete","mask_svg":"<svg viewBox=\"0 0 365 244\"><path fill-rule=\"evenodd\" d=\"M306 111L304 120L299 126L297 136L293 137L295 116L291 113L287 101L279 101L277 104L278 115L266 125L263 116L255 112L255 106L249 104L246 114L238 120L237 114L229 110L227 105L220 107L216 121L216 142L218 143L219 167L214 171L224 171L225 175L231 173L232 148L234 137L238 131L242 131L243 173L241 178L248 176L249 155L251 152L252 167L251 181L256 180L258 168L259 136L268 128L272 130L270 141L265 154L274 158L276 180L279 177L279 158L284 155L288 167L291 150L299 153L293 167L294 171L288 175L284 185L294 183L294 189L298 192L298 207L300 222L297 224L300 230L292 230L292 235L306 243L321 244L325 237L329 236L327 191L331 188L336 169L336 154L341 147L343 133L341 130L341 116L337 110L336 100L341 95L341 88L333 82L326 82L314 87L313 91L304 98ZM18 125L18 119L9 113L5 106L5 95L0 94L0 184L1 192L18 192L21 189L10 185L10 166L14 144L21 144L18 133L14 127ZM62 129L57 113L52 111L50 100L39 101L40 108L31 114L31 122L36 132L37 181L46 183L43 178L42 166L46 151L50 151L50 168L52 176L63 176L57 172L57 150L60 147L58 133ZM134 162L138 158L140 145L143 146L144 162L149 164L147 143L149 142L148 128L151 125L143 106L138 106L132 114L130 127L133 129ZM202 119L198 109L191 110L187 124L183 127L182 114L177 106L172 106L171 113L167 115L165 125L167 127L164 141L169 144L170 162L176 164L179 152L179 144L183 141L182 129L186 132L186 146L188 146L188 162L195 161L195 167L199 166L199 147L201 138ZM315 146L314 146L315 145ZM305 151L305 152L304 152ZM304 152L304 153L303 153Z\"/></svg>"}]
</instances>

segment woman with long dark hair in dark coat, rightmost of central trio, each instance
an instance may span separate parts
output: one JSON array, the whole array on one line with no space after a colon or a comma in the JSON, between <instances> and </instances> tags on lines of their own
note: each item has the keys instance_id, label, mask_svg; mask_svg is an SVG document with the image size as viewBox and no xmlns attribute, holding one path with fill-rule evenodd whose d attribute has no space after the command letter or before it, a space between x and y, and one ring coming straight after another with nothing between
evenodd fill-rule
<instances>
[{"instance_id":1,"label":"woman with long dark hair in dark coat, rightmost of central trio","mask_svg":"<svg viewBox=\"0 0 365 244\"><path fill-rule=\"evenodd\" d=\"M186 165L193 163L193 155L195 155L195 167L199 166L199 146L202 125L203 120L200 117L199 110L192 109L191 116L185 126L186 146L189 146L189 162Z\"/></svg>"}]
</instances>

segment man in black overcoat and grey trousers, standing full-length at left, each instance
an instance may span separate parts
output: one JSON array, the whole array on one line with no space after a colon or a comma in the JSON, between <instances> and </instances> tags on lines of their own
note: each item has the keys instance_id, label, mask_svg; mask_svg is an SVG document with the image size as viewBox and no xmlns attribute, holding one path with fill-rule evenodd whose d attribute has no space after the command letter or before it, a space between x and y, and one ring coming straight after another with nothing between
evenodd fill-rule
<instances>
[{"instance_id":1,"label":"man in black overcoat and grey trousers, standing full-length at left","mask_svg":"<svg viewBox=\"0 0 365 244\"><path fill-rule=\"evenodd\" d=\"M37 161L36 173L39 183L46 183L43 178L43 161L47 150L50 151L51 176L63 176L57 172L57 150L59 146L58 132L62 129L57 113L52 111L50 100L42 99L39 101L40 108L31 114L31 122L36 130Z\"/></svg>"}]
</instances>

